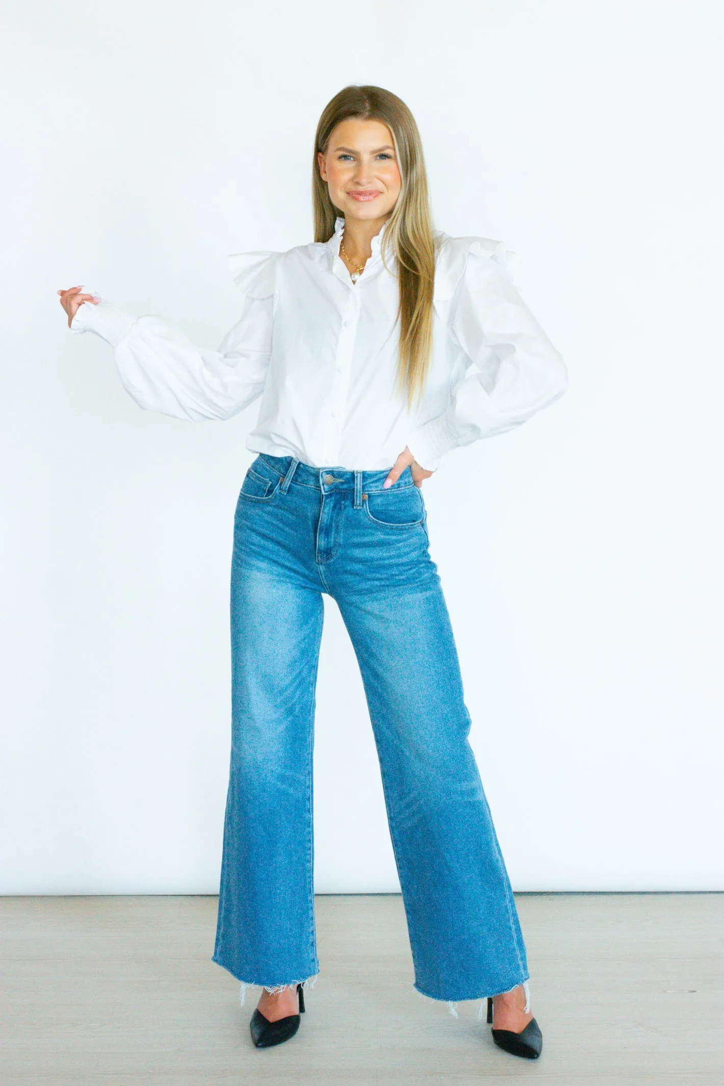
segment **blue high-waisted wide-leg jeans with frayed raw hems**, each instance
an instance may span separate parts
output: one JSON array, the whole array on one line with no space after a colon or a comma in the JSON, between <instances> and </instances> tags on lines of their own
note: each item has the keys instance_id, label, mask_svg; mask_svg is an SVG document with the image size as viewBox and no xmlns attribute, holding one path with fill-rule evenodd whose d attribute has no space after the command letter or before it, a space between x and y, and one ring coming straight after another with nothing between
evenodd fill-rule
<instances>
[{"instance_id":1,"label":"blue high-waisted wide-leg jeans with frayed raw hems","mask_svg":"<svg viewBox=\"0 0 724 1086\"><path fill-rule=\"evenodd\" d=\"M232 735L214 961L276 988L319 972L312 752L322 593L352 639L380 759L415 987L456 1001L528 981L468 743L453 630L409 468L261 454L237 505Z\"/></svg>"}]
</instances>

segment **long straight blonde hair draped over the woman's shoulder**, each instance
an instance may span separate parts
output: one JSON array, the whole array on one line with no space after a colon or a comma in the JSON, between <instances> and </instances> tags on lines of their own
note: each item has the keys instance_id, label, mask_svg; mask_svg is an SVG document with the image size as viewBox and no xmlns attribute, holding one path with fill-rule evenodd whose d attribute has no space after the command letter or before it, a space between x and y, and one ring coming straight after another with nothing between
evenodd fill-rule
<instances>
[{"instance_id":1,"label":"long straight blonde hair draped over the woman's shoulder","mask_svg":"<svg viewBox=\"0 0 724 1086\"><path fill-rule=\"evenodd\" d=\"M435 280L435 241L430 214L428 175L415 117L401 98L382 87L344 87L325 106L315 139L312 193L315 241L329 241L342 214L321 179L317 154L327 153L334 128L347 117L381 121L392 132L402 189L382 238L382 258L393 251L399 283L399 354L397 391L407 393L411 407L424 389L432 353L432 296Z\"/></svg>"}]
</instances>

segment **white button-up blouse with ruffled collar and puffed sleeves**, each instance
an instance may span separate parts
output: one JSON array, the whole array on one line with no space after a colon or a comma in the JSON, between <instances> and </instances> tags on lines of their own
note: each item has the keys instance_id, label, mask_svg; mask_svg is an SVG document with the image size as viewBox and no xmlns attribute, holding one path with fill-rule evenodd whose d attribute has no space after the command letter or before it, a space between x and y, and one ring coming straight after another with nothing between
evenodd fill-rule
<instances>
[{"instance_id":1,"label":"white button-up blouse with ruffled collar and puffed sleeves","mask_svg":"<svg viewBox=\"0 0 724 1086\"><path fill-rule=\"evenodd\" d=\"M499 241L439 233L432 358L408 411L395 391L398 294L384 227L356 283L340 256L343 228L339 218L329 241L287 252L230 254L243 303L216 351L104 298L80 305L71 330L113 346L124 388L148 411L226 419L261 397L246 447L317 468L385 469L407 445L435 470L456 446L563 394L566 365L513 283L515 255Z\"/></svg>"}]
</instances>

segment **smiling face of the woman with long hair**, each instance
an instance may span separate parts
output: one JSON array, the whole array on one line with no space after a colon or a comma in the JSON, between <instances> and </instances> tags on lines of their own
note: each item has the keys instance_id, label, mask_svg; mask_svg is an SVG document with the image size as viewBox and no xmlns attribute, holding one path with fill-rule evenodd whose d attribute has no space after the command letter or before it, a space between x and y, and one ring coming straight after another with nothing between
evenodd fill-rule
<instances>
[{"instance_id":1,"label":"smiling face of the woman with long hair","mask_svg":"<svg viewBox=\"0 0 724 1086\"><path fill-rule=\"evenodd\" d=\"M327 153L319 152L317 161L330 199L345 217L390 217L402 177L392 132L381 121L341 121L332 130Z\"/></svg>"}]
</instances>

